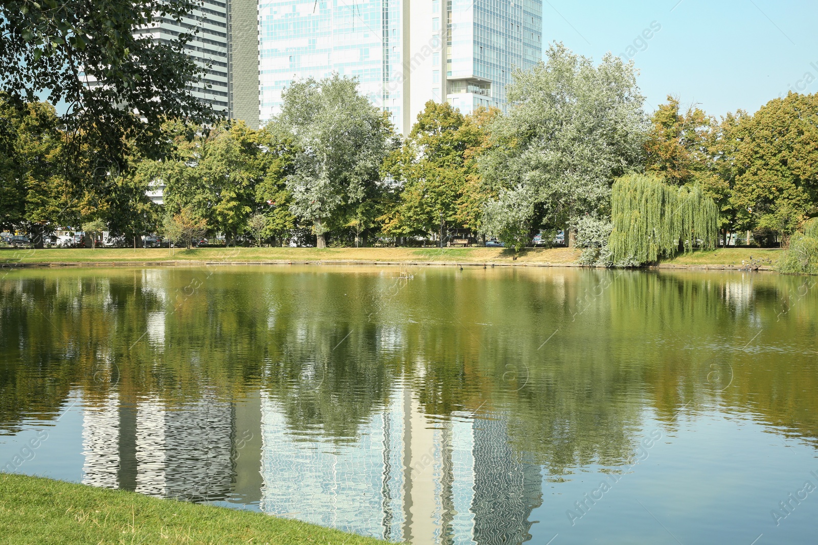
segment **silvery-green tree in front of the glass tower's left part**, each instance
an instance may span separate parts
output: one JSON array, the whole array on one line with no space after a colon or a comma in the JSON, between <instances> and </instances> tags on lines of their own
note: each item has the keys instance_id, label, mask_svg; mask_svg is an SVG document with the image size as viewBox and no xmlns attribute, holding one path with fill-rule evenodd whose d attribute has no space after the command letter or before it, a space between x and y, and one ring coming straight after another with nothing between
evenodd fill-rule
<instances>
[{"instance_id":1,"label":"silvery-green tree in front of the glass tower's left part","mask_svg":"<svg viewBox=\"0 0 818 545\"><path fill-rule=\"evenodd\" d=\"M392 145L386 114L357 91L357 80L333 74L293 82L283 92L276 125L298 148L287 176L290 211L312 223L318 248L357 204L381 187L380 166Z\"/></svg>"}]
</instances>

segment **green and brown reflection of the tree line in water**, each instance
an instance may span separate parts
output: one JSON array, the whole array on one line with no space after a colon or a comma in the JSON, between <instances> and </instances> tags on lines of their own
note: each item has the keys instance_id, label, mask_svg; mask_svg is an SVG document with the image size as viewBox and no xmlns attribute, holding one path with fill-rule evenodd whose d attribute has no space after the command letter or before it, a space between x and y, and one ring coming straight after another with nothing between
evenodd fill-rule
<instances>
[{"instance_id":1,"label":"green and brown reflection of the tree line in water","mask_svg":"<svg viewBox=\"0 0 818 545\"><path fill-rule=\"evenodd\" d=\"M512 414L515 449L554 475L627 462L645 405L668 425L685 404L751 410L814 439L818 290L748 278L423 270L389 291L368 269L15 271L0 426L54 418L72 385L171 405L262 387L294 431L345 441L405 380L431 415Z\"/></svg>"}]
</instances>

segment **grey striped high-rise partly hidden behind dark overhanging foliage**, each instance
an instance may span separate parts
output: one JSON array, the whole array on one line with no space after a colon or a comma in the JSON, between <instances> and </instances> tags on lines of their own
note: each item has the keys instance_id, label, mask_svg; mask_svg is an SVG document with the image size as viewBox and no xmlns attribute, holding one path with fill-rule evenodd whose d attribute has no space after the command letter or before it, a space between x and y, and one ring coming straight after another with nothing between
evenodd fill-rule
<instances>
[{"instance_id":1,"label":"grey striped high-rise partly hidden behind dark overhanging foliage","mask_svg":"<svg viewBox=\"0 0 818 545\"><path fill-rule=\"evenodd\" d=\"M182 21L157 18L138 36L169 41L196 30L185 50L205 77L193 88L200 101L258 128L258 8L256 0L202 0Z\"/></svg>"}]
</instances>

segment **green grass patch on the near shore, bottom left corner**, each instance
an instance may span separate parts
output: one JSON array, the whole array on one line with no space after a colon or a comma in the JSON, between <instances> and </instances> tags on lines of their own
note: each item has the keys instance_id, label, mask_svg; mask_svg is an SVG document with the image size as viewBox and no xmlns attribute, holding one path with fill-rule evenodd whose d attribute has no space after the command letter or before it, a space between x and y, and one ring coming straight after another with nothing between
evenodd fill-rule
<instances>
[{"instance_id":1,"label":"green grass patch on the near shore, bottom left corner","mask_svg":"<svg viewBox=\"0 0 818 545\"><path fill-rule=\"evenodd\" d=\"M252 511L0 473L2 543L386 543Z\"/></svg>"}]
</instances>

